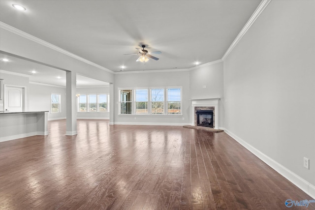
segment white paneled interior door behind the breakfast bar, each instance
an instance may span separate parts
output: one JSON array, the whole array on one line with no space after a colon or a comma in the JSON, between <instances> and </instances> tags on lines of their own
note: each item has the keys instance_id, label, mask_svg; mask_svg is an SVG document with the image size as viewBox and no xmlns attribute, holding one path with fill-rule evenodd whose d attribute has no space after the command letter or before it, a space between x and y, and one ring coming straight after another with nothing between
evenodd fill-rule
<instances>
[{"instance_id":1,"label":"white paneled interior door behind the breakfast bar","mask_svg":"<svg viewBox=\"0 0 315 210\"><path fill-rule=\"evenodd\" d=\"M15 86L4 87L4 110L22 112L24 107L24 88Z\"/></svg>"}]
</instances>

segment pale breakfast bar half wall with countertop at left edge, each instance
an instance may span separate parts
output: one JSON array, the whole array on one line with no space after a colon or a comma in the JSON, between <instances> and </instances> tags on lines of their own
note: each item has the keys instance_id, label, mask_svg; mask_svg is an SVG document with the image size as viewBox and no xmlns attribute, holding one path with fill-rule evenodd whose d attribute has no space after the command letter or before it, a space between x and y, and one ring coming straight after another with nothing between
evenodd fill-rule
<instances>
[{"instance_id":1,"label":"pale breakfast bar half wall with countertop at left edge","mask_svg":"<svg viewBox=\"0 0 315 210\"><path fill-rule=\"evenodd\" d=\"M0 142L48 135L48 111L0 112Z\"/></svg>"}]
</instances>

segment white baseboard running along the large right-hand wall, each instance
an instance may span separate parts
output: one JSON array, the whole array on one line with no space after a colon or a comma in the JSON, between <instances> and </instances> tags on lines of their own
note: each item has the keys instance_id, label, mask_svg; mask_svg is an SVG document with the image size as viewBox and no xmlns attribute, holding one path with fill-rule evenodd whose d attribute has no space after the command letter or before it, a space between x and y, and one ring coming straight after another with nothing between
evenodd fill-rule
<instances>
[{"instance_id":1,"label":"white baseboard running along the large right-hand wall","mask_svg":"<svg viewBox=\"0 0 315 210\"><path fill-rule=\"evenodd\" d=\"M292 171L288 170L283 165L281 165L274 159L270 158L269 156L265 155L261 151L252 147L252 145L248 144L243 139L236 136L234 133L230 132L229 130L225 128L221 128L221 129L224 130L225 133L231 136L235 141L240 143L247 150L250 150L254 155L256 155L259 159L261 159L271 168L276 170L279 174L284 176L287 180L291 181L293 184L295 184L297 187L299 187L301 190L303 190L305 193L307 193L309 196L315 199L315 186L314 185L304 180L303 178L299 177L297 174L293 173Z\"/></svg>"}]
</instances>

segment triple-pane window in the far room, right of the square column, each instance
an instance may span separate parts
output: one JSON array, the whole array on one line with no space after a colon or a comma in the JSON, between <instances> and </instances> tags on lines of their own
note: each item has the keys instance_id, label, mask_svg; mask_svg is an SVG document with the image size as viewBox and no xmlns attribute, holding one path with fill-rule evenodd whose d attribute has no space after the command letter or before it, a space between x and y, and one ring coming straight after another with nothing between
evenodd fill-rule
<instances>
[{"instance_id":1,"label":"triple-pane window in the far room, right of the square column","mask_svg":"<svg viewBox=\"0 0 315 210\"><path fill-rule=\"evenodd\" d=\"M108 112L108 94L80 94L78 112Z\"/></svg>"}]
</instances>

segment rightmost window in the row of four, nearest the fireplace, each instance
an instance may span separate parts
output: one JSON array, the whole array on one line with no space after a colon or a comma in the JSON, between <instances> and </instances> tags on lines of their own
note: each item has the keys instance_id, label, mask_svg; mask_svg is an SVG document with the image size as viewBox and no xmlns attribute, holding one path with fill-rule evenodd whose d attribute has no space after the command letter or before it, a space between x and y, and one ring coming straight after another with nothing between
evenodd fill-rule
<instances>
[{"instance_id":1,"label":"rightmost window in the row of four, nearest the fireplace","mask_svg":"<svg viewBox=\"0 0 315 210\"><path fill-rule=\"evenodd\" d=\"M167 89L167 114L180 115L181 113L181 89L168 88Z\"/></svg>"}]
</instances>

